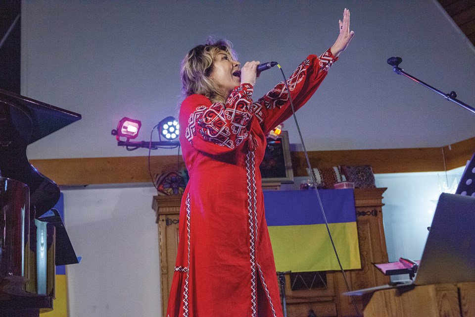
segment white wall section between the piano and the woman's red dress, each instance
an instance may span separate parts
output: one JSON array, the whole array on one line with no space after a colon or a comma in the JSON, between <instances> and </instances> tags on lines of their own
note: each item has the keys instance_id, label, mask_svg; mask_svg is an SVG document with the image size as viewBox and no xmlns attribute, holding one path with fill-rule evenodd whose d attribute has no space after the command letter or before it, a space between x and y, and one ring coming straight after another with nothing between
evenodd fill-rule
<instances>
[{"instance_id":1,"label":"white wall section between the piano and the woman's red dress","mask_svg":"<svg viewBox=\"0 0 475 317\"><path fill-rule=\"evenodd\" d=\"M161 316L156 190L64 188L65 227L79 264L67 265L69 317Z\"/></svg>"}]
</instances>

